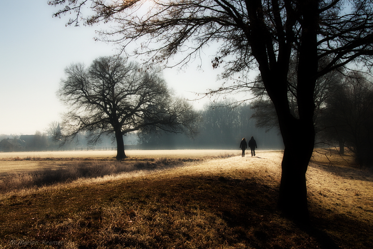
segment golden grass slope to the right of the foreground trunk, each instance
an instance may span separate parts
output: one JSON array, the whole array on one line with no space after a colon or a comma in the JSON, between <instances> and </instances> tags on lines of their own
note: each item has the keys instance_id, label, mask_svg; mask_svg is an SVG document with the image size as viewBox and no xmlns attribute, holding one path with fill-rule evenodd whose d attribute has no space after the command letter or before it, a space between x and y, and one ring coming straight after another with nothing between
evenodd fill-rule
<instances>
[{"instance_id":1,"label":"golden grass slope to the right of the foreground trunk","mask_svg":"<svg viewBox=\"0 0 373 249\"><path fill-rule=\"evenodd\" d=\"M354 245L348 248L372 248L373 176L358 169L348 152L320 152L326 155L314 153L307 171L314 221L336 240Z\"/></svg>"}]
</instances>

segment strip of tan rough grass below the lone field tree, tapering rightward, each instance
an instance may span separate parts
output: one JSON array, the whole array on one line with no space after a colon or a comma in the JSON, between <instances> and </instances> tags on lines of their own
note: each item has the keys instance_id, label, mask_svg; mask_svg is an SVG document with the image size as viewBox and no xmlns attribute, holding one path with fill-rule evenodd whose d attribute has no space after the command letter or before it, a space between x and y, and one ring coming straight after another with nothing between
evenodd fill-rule
<instances>
[{"instance_id":1,"label":"strip of tan rough grass below the lone field tree, tapering rightward","mask_svg":"<svg viewBox=\"0 0 373 249\"><path fill-rule=\"evenodd\" d=\"M174 153L174 152L173 152ZM210 153L207 153L210 154ZM163 154L162 154L163 155ZM187 155L187 153L184 153ZM191 154L195 155L195 154ZM46 186L56 183L70 183L72 181L81 182L83 178L102 178L104 176L116 176L123 172L132 172L137 174L138 171L152 171L159 168L172 166L181 166L188 162L201 162L210 159L227 158L233 154L216 154L208 156L200 156L193 158L126 158L122 162L116 160L103 160L98 154L98 159L78 158L75 160L62 160L38 158L37 162L29 162L26 164L23 160L15 160L18 168L3 167L0 175L0 194L30 192L32 189L39 189L41 186ZM12 162L11 160L5 161Z\"/></svg>"}]
</instances>

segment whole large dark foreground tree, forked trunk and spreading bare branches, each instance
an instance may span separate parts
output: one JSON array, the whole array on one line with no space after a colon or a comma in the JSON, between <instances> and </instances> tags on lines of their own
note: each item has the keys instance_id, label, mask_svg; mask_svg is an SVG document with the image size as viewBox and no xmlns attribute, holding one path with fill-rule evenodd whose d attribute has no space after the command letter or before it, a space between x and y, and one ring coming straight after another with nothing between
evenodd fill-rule
<instances>
[{"instance_id":1,"label":"whole large dark foreground tree, forked trunk and spreading bare branches","mask_svg":"<svg viewBox=\"0 0 373 249\"><path fill-rule=\"evenodd\" d=\"M93 12L84 16L89 3ZM49 4L62 4L56 16L76 14L68 24L116 22L117 27L102 32L103 40L123 49L139 41L141 47L135 52L147 53L154 62L168 63L182 53L179 65L183 65L204 46L219 41L222 46L213 66L226 66L223 77L259 69L285 145L278 206L288 217L308 220L305 173L314 147L316 80L351 62L372 65L372 1L52 0ZM329 63L320 69L318 62L325 57ZM298 116L292 114L288 99L292 58L297 59ZM251 85L241 78L219 90L245 87Z\"/></svg>"}]
</instances>

